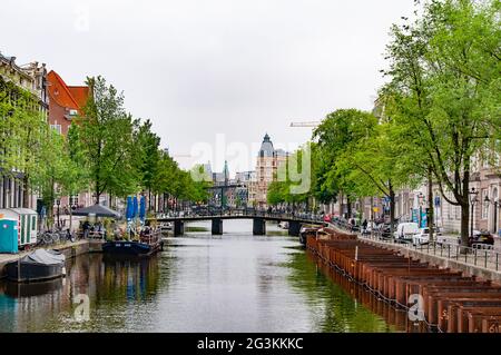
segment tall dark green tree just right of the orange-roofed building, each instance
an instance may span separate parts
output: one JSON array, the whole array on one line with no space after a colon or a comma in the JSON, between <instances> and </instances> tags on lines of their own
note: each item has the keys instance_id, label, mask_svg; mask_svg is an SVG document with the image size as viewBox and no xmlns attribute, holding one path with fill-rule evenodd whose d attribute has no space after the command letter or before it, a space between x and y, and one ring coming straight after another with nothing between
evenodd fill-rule
<instances>
[{"instance_id":1,"label":"tall dark green tree just right of the orange-roofed building","mask_svg":"<svg viewBox=\"0 0 501 355\"><path fill-rule=\"evenodd\" d=\"M139 189L134 144L138 120L126 114L124 95L108 86L102 77L88 78L87 85L90 96L84 115L77 120L75 136L98 204L104 193L126 196Z\"/></svg>"}]
</instances>

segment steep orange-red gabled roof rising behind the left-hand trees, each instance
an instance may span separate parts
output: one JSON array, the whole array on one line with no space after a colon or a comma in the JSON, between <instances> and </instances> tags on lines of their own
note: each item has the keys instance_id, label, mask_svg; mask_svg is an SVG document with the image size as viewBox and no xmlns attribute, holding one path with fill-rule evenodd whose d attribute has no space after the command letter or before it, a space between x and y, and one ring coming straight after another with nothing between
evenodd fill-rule
<instances>
[{"instance_id":1,"label":"steep orange-red gabled roof rising behind the left-hand trees","mask_svg":"<svg viewBox=\"0 0 501 355\"><path fill-rule=\"evenodd\" d=\"M70 109L81 109L87 100L88 87L72 87L70 89L53 70L47 75L49 82L48 91L50 99L61 107ZM81 105L84 102L84 105Z\"/></svg>"}]
</instances>

